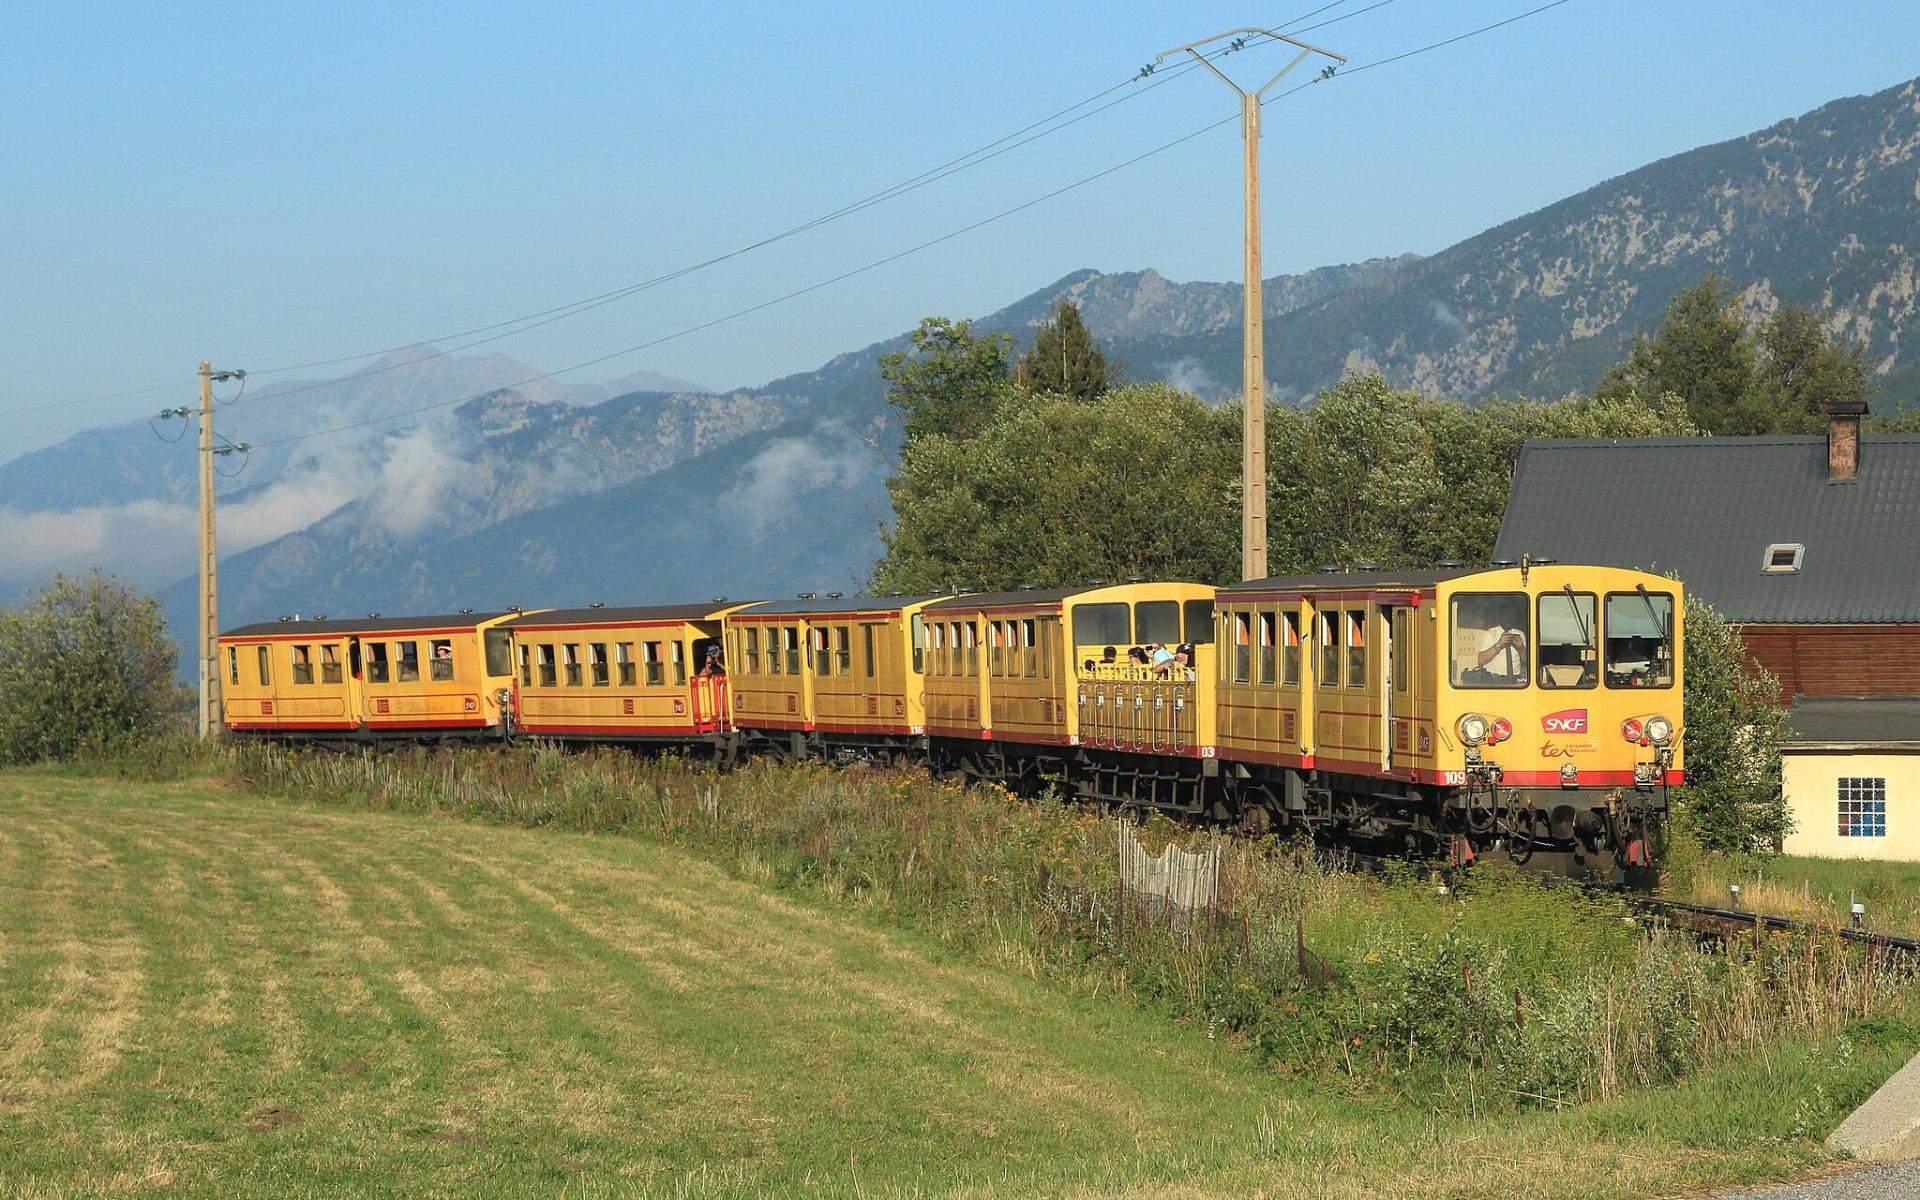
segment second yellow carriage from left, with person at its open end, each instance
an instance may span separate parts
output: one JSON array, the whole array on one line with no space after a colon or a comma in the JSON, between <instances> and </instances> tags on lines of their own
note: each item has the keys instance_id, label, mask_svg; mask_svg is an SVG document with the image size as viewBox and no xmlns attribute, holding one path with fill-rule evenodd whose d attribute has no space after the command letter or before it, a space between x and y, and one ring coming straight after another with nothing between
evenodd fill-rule
<instances>
[{"instance_id":1,"label":"second yellow carriage from left, with person at its open end","mask_svg":"<svg viewBox=\"0 0 1920 1200\"><path fill-rule=\"evenodd\" d=\"M708 664L741 605L551 609L505 622L515 641L515 724L538 737L718 745L728 678Z\"/></svg>"}]
</instances>

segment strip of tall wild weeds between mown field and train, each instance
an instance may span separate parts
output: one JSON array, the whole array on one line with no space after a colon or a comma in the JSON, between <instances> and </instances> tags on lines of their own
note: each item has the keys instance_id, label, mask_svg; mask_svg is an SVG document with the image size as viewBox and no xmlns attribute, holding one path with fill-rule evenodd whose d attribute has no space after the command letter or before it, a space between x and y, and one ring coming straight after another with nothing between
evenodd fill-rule
<instances>
[{"instance_id":1,"label":"strip of tall wild weeds between mown field and train","mask_svg":"<svg viewBox=\"0 0 1920 1200\"><path fill-rule=\"evenodd\" d=\"M1212 908L1135 897L1117 828L918 772L555 747L236 751L259 789L313 803L634 833L983 960L1139 1002L1277 1069L1476 1104L1574 1104L1849 1021L1916 1031L1912 973L1836 937L1709 947L1574 887L1476 872L1363 877L1273 839L1221 847ZM1148 843L1206 833L1150 820Z\"/></svg>"}]
</instances>

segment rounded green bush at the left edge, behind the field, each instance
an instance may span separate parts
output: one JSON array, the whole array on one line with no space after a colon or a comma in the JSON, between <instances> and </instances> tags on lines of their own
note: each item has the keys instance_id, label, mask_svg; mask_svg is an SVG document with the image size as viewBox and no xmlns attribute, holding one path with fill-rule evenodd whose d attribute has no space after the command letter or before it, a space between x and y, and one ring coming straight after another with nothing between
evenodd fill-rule
<instances>
[{"instance_id":1,"label":"rounded green bush at the left edge, behind the field","mask_svg":"<svg viewBox=\"0 0 1920 1200\"><path fill-rule=\"evenodd\" d=\"M0 609L0 762L73 758L161 730L177 651L159 601L92 570Z\"/></svg>"}]
</instances>

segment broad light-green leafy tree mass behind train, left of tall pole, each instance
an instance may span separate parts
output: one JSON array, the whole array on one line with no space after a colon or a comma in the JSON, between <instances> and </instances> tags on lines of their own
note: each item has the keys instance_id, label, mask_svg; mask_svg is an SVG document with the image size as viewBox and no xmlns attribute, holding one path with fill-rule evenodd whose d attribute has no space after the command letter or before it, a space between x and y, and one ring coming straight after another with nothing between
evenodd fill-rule
<instances>
[{"instance_id":1,"label":"broad light-green leafy tree mass behind train, left of tall pole","mask_svg":"<svg viewBox=\"0 0 1920 1200\"><path fill-rule=\"evenodd\" d=\"M1238 561L1238 415L1162 384L1039 396L908 442L879 591L1215 582Z\"/></svg>"}]
</instances>

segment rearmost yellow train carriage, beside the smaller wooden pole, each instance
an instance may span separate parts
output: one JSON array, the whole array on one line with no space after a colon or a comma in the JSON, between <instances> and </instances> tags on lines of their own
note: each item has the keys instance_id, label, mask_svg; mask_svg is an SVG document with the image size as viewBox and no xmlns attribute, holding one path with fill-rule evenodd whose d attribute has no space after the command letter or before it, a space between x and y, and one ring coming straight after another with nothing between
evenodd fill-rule
<instances>
[{"instance_id":1,"label":"rearmost yellow train carriage, beside the smaller wooden pole","mask_svg":"<svg viewBox=\"0 0 1920 1200\"><path fill-rule=\"evenodd\" d=\"M499 737L513 708L515 612L278 620L219 637L234 733Z\"/></svg>"}]
</instances>

